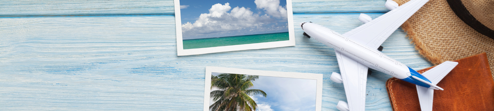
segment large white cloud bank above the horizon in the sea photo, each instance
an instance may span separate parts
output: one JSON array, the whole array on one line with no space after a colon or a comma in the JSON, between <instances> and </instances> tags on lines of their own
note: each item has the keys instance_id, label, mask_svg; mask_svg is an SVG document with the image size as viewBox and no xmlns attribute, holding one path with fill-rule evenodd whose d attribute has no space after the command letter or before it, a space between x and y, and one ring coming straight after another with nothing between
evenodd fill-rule
<instances>
[{"instance_id":1,"label":"large white cloud bank above the horizon in the sea photo","mask_svg":"<svg viewBox=\"0 0 494 111\"><path fill-rule=\"evenodd\" d=\"M193 24L190 22L182 24L182 35L206 35L236 31L259 27L272 21L267 15L253 14L250 8L237 6L231 11L230 9L232 9L230 3L212 5L209 13L201 14ZM230 11L230 13L227 11Z\"/></svg>"}]
</instances>

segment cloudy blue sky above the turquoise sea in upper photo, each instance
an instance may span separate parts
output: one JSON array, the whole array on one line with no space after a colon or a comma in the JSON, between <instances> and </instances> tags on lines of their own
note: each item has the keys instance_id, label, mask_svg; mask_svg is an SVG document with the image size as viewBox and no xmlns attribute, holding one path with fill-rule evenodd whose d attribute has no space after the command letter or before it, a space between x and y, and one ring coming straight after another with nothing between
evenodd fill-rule
<instances>
[{"instance_id":1,"label":"cloudy blue sky above the turquoise sea in upper photo","mask_svg":"<svg viewBox=\"0 0 494 111\"><path fill-rule=\"evenodd\" d=\"M182 39L288 32L286 4L286 0L180 0Z\"/></svg>"}]
</instances>

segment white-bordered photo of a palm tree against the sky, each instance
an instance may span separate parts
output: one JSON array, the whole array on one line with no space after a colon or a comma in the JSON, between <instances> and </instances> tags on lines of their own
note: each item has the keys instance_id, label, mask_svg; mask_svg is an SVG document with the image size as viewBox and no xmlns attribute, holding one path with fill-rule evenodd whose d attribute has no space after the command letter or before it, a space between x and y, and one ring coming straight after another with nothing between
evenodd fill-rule
<instances>
[{"instance_id":1,"label":"white-bordered photo of a palm tree against the sky","mask_svg":"<svg viewBox=\"0 0 494 111\"><path fill-rule=\"evenodd\" d=\"M322 77L206 67L204 111L321 111Z\"/></svg>"}]
</instances>

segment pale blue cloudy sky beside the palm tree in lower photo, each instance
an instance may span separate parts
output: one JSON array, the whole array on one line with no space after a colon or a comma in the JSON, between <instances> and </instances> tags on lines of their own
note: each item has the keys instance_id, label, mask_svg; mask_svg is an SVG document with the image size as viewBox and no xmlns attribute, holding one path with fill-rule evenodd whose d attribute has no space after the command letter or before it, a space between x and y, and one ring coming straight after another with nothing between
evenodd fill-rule
<instances>
[{"instance_id":1,"label":"pale blue cloudy sky beside the palm tree in lower photo","mask_svg":"<svg viewBox=\"0 0 494 111\"><path fill-rule=\"evenodd\" d=\"M218 75L220 73L212 73ZM251 96L257 104L256 111L315 111L315 79L259 76L251 89L266 92L267 97ZM210 105L212 102L210 101Z\"/></svg>"}]
</instances>

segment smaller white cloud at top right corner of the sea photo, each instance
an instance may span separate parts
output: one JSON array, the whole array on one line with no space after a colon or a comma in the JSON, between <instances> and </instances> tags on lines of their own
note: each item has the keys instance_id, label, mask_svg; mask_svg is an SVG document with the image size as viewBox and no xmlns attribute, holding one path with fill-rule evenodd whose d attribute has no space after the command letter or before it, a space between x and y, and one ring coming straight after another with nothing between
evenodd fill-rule
<instances>
[{"instance_id":1,"label":"smaller white cloud at top right corner of the sea photo","mask_svg":"<svg viewBox=\"0 0 494 111\"><path fill-rule=\"evenodd\" d=\"M280 5L280 0L254 0L258 9L263 9L265 13L278 18L287 20L288 13L286 7Z\"/></svg>"}]
</instances>

